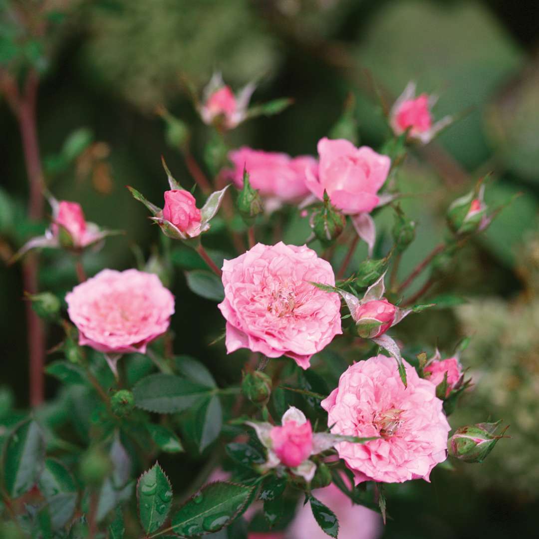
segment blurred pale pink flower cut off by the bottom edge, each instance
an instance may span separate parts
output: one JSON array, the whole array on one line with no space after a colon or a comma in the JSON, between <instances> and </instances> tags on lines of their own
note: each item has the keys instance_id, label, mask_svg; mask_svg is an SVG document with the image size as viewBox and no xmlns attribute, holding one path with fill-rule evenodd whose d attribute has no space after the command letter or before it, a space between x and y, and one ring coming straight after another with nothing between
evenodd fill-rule
<instances>
[{"instance_id":1,"label":"blurred pale pink flower cut off by the bottom edge","mask_svg":"<svg viewBox=\"0 0 539 539\"><path fill-rule=\"evenodd\" d=\"M367 507L354 505L333 483L328 487L314 489L313 495L337 516L339 539L377 539L382 535L382 517ZM303 505L302 502L298 505L298 511L288 528L287 535L294 539L328 537L314 520L309 504Z\"/></svg>"}]
</instances>

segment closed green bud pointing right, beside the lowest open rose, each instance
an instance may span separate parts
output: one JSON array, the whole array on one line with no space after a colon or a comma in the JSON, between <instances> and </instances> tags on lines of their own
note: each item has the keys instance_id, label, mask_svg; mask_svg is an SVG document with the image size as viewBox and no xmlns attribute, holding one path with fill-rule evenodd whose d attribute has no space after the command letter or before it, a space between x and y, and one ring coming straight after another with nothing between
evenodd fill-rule
<instances>
[{"instance_id":1,"label":"closed green bud pointing right, beside the lowest open rose","mask_svg":"<svg viewBox=\"0 0 539 539\"><path fill-rule=\"evenodd\" d=\"M494 434L499 425L500 421L496 421L460 427L447 441L450 456L464 462L482 462L496 442L503 438L505 431L497 436Z\"/></svg>"}]
</instances>

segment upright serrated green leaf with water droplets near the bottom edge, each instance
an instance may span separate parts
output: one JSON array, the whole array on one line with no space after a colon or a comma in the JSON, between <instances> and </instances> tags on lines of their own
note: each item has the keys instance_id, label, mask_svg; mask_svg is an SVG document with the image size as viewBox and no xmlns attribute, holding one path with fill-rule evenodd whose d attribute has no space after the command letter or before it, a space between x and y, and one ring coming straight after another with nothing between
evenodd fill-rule
<instances>
[{"instance_id":1,"label":"upright serrated green leaf with water droplets near the bottom edge","mask_svg":"<svg viewBox=\"0 0 539 539\"><path fill-rule=\"evenodd\" d=\"M140 476L136 495L142 527L152 534L161 528L172 504L170 481L157 462Z\"/></svg>"}]
</instances>

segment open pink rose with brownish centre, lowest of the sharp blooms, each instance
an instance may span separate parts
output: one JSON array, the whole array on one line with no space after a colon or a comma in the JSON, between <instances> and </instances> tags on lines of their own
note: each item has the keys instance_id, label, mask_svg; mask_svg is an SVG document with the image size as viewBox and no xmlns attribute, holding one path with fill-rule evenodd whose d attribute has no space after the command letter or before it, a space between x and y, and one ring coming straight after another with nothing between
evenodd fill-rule
<instances>
[{"instance_id":1,"label":"open pink rose with brownish centre, lowest of the sharp blooms","mask_svg":"<svg viewBox=\"0 0 539 539\"><path fill-rule=\"evenodd\" d=\"M446 459L450 426L436 386L403 360L407 388L395 360L379 355L351 365L322 407L334 433L378 436L365 444L337 444L340 458L363 481L400 483L425 479Z\"/></svg>"}]
</instances>

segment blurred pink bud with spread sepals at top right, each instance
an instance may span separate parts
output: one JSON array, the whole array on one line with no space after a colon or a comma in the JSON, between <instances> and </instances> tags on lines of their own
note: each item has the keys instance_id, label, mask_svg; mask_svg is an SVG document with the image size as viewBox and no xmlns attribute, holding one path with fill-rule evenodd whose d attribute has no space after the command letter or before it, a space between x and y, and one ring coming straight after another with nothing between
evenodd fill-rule
<instances>
[{"instance_id":1,"label":"blurred pink bud with spread sepals at top right","mask_svg":"<svg viewBox=\"0 0 539 539\"><path fill-rule=\"evenodd\" d=\"M420 94L416 97L416 84L409 82L389 113L393 132L398 136L410 129L409 136L412 139L423 144L430 142L441 129L453 121L451 116L445 116L433 123L431 110L436 101L437 97L434 95Z\"/></svg>"}]
</instances>

